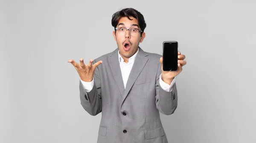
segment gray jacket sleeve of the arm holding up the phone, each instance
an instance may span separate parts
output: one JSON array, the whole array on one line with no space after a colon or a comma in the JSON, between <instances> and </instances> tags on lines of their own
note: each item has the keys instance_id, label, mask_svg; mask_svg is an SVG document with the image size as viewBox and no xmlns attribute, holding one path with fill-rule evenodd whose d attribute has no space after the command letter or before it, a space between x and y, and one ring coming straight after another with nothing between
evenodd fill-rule
<instances>
[{"instance_id":1,"label":"gray jacket sleeve of the arm holding up the phone","mask_svg":"<svg viewBox=\"0 0 256 143\"><path fill-rule=\"evenodd\" d=\"M157 78L156 79L156 97L155 97L156 106L157 106L157 109L164 115L171 115L174 113L175 109L177 108L177 101L178 101L177 87L175 83L173 90L171 92L167 92L163 90L159 84L159 80L160 80L159 78L161 73L162 73L161 64L159 64L157 77L156 77Z\"/></svg>"}]
</instances>

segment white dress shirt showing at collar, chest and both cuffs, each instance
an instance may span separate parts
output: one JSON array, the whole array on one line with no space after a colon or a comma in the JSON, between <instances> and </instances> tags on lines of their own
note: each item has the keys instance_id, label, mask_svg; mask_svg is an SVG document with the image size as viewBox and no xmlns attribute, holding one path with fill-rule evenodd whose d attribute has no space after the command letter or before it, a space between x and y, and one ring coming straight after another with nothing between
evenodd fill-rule
<instances>
[{"instance_id":1,"label":"white dress shirt showing at collar, chest and both cuffs","mask_svg":"<svg viewBox=\"0 0 256 143\"><path fill-rule=\"evenodd\" d=\"M131 68L132 68L132 66L134 64L135 57L137 56L138 53L139 53L139 48L138 48L137 52L134 53L134 55L129 58L128 63L125 63L124 59L122 58L122 56L120 55L120 53L118 51L118 58L119 58L119 63L120 63L120 69L121 69L122 79L124 81L124 86L125 87L126 87L126 83L128 81L128 77L129 77L129 75L131 73ZM83 84L84 90L88 93L88 92L90 92L93 89L94 78L90 82L86 82L86 81L82 81L81 80L81 83ZM175 79L172 80L171 85L166 84L163 81L162 74L161 74L160 75L160 79L159 79L159 84L160 84L160 87L163 90L165 90L167 92L171 92L173 90L173 87L174 87L174 84L175 84Z\"/></svg>"}]
</instances>

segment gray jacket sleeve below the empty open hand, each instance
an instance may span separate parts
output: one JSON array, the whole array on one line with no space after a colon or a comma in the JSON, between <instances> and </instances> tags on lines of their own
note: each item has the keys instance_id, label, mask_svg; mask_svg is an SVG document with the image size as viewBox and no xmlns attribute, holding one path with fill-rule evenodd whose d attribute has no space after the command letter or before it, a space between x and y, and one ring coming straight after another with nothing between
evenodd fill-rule
<instances>
[{"instance_id":1,"label":"gray jacket sleeve below the empty open hand","mask_svg":"<svg viewBox=\"0 0 256 143\"><path fill-rule=\"evenodd\" d=\"M96 61L93 61L93 64ZM94 73L94 83L93 89L90 92L86 92L84 90L83 84L80 81L79 84L79 91L80 91L80 101L82 107L90 114L90 115L97 115L102 112L102 98L101 98L101 81L100 81L100 74L99 68L96 67Z\"/></svg>"}]
</instances>

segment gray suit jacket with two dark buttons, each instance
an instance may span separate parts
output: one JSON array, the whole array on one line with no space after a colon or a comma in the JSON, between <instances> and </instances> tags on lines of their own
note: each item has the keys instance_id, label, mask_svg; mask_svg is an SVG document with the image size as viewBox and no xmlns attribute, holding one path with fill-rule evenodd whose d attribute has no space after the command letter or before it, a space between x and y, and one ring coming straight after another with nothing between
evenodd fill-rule
<instances>
[{"instance_id":1,"label":"gray suit jacket with two dark buttons","mask_svg":"<svg viewBox=\"0 0 256 143\"><path fill-rule=\"evenodd\" d=\"M126 88L119 66L118 48L94 60L100 64L93 89L86 93L80 82L81 105L90 115L102 112L97 143L168 143L160 113L177 108L177 88L164 91L159 85L161 55L141 48Z\"/></svg>"}]
</instances>

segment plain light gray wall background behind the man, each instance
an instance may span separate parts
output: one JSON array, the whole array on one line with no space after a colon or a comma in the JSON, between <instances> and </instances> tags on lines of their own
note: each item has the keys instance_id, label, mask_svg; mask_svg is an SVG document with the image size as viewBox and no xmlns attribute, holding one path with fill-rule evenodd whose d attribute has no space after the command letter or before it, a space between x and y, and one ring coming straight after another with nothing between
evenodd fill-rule
<instances>
[{"instance_id":1,"label":"plain light gray wall background behind the man","mask_svg":"<svg viewBox=\"0 0 256 143\"><path fill-rule=\"evenodd\" d=\"M255 143L255 0L1 0L0 142L96 143L101 114L81 107L67 60L113 51L127 7L145 17L143 50L176 40L186 55L177 110L161 115L169 142Z\"/></svg>"}]
</instances>

